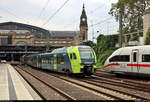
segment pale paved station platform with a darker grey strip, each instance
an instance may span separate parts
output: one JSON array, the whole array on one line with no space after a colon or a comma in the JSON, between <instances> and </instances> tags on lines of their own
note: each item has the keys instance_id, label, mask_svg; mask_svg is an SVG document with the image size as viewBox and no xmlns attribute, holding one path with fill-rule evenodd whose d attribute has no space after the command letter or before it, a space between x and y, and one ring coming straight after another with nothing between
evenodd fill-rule
<instances>
[{"instance_id":1,"label":"pale paved station platform with a darker grey strip","mask_svg":"<svg viewBox=\"0 0 150 102\"><path fill-rule=\"evenodd\" d=\"M0 64L0 100L42 100L21 75L7 63Z\"/></svg>"}]
</instances>

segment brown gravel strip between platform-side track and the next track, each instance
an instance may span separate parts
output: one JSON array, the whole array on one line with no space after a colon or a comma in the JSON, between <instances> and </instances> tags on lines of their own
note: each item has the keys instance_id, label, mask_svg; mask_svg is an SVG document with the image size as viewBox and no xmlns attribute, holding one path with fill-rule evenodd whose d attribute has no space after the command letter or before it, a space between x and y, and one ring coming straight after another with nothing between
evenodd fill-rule
<instances>
[{"instance_id":1,"label":"brown gravel strip between platform-side track and the next track","mask_svg":"<svg viewBox=\"0 0 150 102\"><path fill-rule=\"evenodd\" d=\"M61 79L53 77L51 75L45 74L39 70L35 70L32 68L24 68L24 70L33 73L37 77L40 77L47 84L51 84L58 89L64 91L65 93L71 95L77 100L110 100L109 97L104 97L103 95L95 94L90 92L88 89L83 90L83 88L76 87L74 85L68 84Z\"/></svg>"}]
</instances>

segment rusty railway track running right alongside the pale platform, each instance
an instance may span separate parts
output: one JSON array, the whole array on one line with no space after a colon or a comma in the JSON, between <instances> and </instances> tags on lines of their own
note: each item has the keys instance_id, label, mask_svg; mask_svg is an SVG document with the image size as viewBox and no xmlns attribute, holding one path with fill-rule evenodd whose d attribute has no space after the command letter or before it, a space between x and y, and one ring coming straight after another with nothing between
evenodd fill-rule
<instances>
[{"instance_id":1,"label":"rusty railway track running right alongside the pale platform","mask_svg":"<svg viewBox=\"0 0 150 102\"><path fill-rule=\"evenodd\" d=\"M50 100L51 96L46 95L43 90L54 90L55 92L57 92L59 95L63 96L58 98L58 99L62 99L62 100L76 100L75 98L69 96L68 94L64 93L63 91L59 90L58 88L56 88L55 86L52 86L50 84L47 84L45 81L41 80L40 78L36 77L35 75L33 75L32 73L25 71L23 68L17 68L18 66L15 66L16 71L32 86L32 88L39 94L39 96L43 99L43 100ZM29 80L30 79L30 80ZM32 81L31 81L32 80ZM35 87L36 85L33 84L33 80L34 83L38 83L39 85L43 85L44 88L37 88ZM55 94L56 95L56 94ZM55 96L56 97L56 96ZM58 100L56 99L56 100Z\"/></svg>"}]
</instances>

